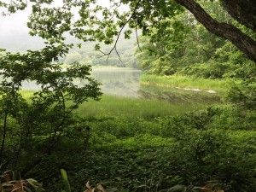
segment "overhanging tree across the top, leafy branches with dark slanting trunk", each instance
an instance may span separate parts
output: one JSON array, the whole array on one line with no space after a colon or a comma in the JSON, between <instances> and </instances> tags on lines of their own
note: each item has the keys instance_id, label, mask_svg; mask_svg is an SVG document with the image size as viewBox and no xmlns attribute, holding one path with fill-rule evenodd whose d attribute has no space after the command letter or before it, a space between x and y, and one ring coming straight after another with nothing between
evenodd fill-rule
<instances>
[{"instance_id":1,"label":"overhanging tree across the top, leafy branches with dark slanting trunk","mask_svg":"<svg viewBox=\"0 0 256 192\"><path fill-rule=\"evenodd\" d=\"M121 32L125 33L125 38L129 38L132 29L136 31L141 29L143 35L150 35L150 28L159 28L158 35L160 36L168 33L166 27L170 25L176 27L177 30L182 30L177 20L165 24L161 21L173 18L183 12L184 9L188 9L208 31L218 37L228 39L238 49L241 49L248 58L256 61L255 37L245 32L246 30L255 32L256 3L253 0L221 1L224 9L238 23L246 26L246 30L242 29L241 26L234 26L231 23L214 19L201 6L200 3L205 1L121 0L110 2L110 8L96 5L96 1L86 0L65 0L59 6L49 6L54 3L53 0L31 0L30 3L27 1L3 3L0 1L0 6L6 9L7 12L5 13L14 13L18 9L32 6L32 15L27 24L31 29L30 34L48 39L49 44L61 43L65 40L63 34L68 32L84 41L96 40L105 44L113 44L112 51L117 50L116 42ZM128 6L129 9L119 11L122 5ZM76 11L77 13L75 13ZM96 49L99 49L98 44L96 44ZM108 55L109 53L104 54Z\"/></svg>"}]
</instances>

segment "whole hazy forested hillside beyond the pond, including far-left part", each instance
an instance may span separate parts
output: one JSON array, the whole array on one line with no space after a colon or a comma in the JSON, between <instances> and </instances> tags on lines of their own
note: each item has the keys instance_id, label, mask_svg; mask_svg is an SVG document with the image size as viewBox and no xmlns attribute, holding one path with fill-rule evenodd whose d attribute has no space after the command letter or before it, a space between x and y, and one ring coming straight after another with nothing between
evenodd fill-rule
<instances>
[{"instance_id":1,"label":"whole hazy forested hillside beyond the pond, including far-left part","mask_svg":"<svg viewBox=\"0 0 256 192\"><path fill-rule=\"evenodd\" d=\"M108 52L113 48L113 44L106 45L101 44L101 51L95 50L95 42L81 42L76 38L67 38L68 43L74 44L73 49L63 58L59 60L66 65L70 65L74 61L81 64L91 66L112 66L112 67L131 67L138 68L135 51L137 49L137 38L135 34L131 34L130 39L125 39L124 35L121 35L117 44L117 51L115 50L110 54ZM76 44L81 43L81 48ZM4 36L0 34L0 45L10 52L26 52L27 49L42 49L44 47L44 41L41 38L31 37L26 33L17 33L15 36Z\"/></svg>"}]
</instances>

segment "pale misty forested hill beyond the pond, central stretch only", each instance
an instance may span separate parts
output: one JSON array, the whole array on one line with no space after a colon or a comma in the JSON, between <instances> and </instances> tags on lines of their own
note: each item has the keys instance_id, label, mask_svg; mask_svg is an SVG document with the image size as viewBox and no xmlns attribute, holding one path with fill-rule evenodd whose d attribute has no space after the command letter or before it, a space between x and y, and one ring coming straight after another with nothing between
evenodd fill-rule
<instances>
[{"instance_id":1,"label":"pale misty forested hill beyond the pond, central stretch only","mask_svg":"<svg viewBox=\"0 0 256 192\"><path fill-rule=\"evenodd\" d=\"M78 40L73 39L73 41L77 41L76 43L79 44ZM125 39L121 36L117 44L117 52L113 50L109 57L104 54L108 54L109 51L113 49L113 44L101 44L101 51L96 51L95 42L82 43L81 48L74 47L61 62L67 65L74 61L79 61L81 64L91 66L138 68L137 59L134 55L137 49L136 42L137 39L135 34L132 34L130 39Z\"/></svg>"}]
</instances>

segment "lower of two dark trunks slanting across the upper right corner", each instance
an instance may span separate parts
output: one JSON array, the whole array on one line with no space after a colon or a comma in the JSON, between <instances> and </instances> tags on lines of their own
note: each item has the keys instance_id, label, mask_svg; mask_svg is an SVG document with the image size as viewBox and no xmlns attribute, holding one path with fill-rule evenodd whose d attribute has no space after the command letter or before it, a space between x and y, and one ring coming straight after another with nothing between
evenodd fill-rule
<instances>
[{"instance_id":1,"label":"lower of two dark trunks slanting across the upper right corner","mask_svg":"<svg viewBox=\"0 0 256 192\"><path fill-rule=\"evenodd\" d=\"M236 47L247 55L249 59L256 62L256 41L254 41L253 38L250 38L245 33L241 32L236 26L213 20L212 17L201 8L201 5L195 2L195 0L176 0L176 2L195 15L195 19L205 26L209 32L212 32L218 37L230 40L230 42L236 45Z\"/></svg>"}]
</instances>

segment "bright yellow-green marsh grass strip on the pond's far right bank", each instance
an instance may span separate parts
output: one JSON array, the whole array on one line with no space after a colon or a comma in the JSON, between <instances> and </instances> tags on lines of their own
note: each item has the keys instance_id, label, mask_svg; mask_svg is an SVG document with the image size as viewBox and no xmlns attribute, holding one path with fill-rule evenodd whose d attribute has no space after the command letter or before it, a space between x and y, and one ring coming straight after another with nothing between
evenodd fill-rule
<instances>
[{"instance_id":1,"label":"bright yellow-green marsh grass strip on the pond's far right bank","mask_svg":"<svg viewBox=\"0 0 256 192\"><path fill-rule=\"evenodd\" d=\"M196 79L193 77L172 75L157 76L143 75L141 84L153 84L162 87L182 87L201 90L215 90L217 93L224 93L228 90L228 80L222 79Z\"/></svg>"}]
</instances>

